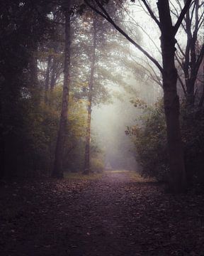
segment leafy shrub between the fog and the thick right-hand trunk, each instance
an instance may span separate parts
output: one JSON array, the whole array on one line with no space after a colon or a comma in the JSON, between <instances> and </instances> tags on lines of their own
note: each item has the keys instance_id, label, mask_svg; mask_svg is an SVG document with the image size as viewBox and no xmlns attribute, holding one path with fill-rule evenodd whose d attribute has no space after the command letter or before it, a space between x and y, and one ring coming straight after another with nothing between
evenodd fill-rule
<instances>
[{"instance_id":1,"label":"leafy shrub between the fog and the thick right-hand trunk","mask_svg":"<svg viewBox=\"0 0 204 256\"><path fill-rule=\"evenodd\" d=\"M140 172L142 176L166 181L169 166L162 102L147 108L141 117L141 123L140 127L134 127L137 135L132 137L136 146L136 159L142 166Z\"/></svg>"}]
</instances>

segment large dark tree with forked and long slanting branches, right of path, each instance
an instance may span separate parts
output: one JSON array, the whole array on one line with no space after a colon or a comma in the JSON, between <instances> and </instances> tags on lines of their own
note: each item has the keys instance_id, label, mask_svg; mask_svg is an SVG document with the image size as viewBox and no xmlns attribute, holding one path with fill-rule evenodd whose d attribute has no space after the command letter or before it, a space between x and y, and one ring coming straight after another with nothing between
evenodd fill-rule
<instances>
[{"instance_id":1,"label":"large dark tree with forked and long slanting branches, right of path","mask_svg":"<svg viewBox=\"0 0 204 256\"><path fill-rule=\"evenodd\" d=\"M179 15L176 24L173 26L171 21L171 14L169 8L169 0L158 0L157 9L159 11L159 20L152 9L147 4L146 0L143 0L145 8L149 12L150 16L157 23L161 31L161 49L162 49L162 66L155 60L146 50L137 44L125 31L120 28L114 21L113 18L108 14L104 8L103 1L89 1L84 2L89 8L96 11L97 14L106 18L125 38L130 41L137 49L142 51L149 60L152 60L154 65L159 68L162 73L163 90L164 90L164 111L166 117L166 131L167 131L167 142L169 148L169 165L170 165L170 177L169 177L169 188L174 193L179 193L186 189L186 171L183 161L183 148L181 141L181 131L179 124L179 96L176 91L176 82L178 79L177 70L175 67L175 44L176 44L176 33L181 26L186 12L191 5L192 0L187 0L183 7L181 14Z\"/></svg>"}]
</instances>

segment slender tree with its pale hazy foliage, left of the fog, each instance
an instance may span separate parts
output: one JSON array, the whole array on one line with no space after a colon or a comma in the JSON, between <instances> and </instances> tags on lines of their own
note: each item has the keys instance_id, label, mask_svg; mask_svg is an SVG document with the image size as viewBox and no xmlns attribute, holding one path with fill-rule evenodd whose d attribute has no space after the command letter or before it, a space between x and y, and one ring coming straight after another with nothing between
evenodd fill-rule
<instances>
[{"instance_id":1,"label":"slender tree with its pale hazy foliage, left of the fog","mask_svg":"<svg viewBox=\"0 0 204 256\"><path fill-rule=\"evenodd\" d=\"M74 56L72 55L71 60L73 66L72 91L78 99L84 98L87 101L84 174L89 174L91 169L90 160L91 157L94 156L91 154L93 153L92 149L94 149L91 145L92 108L94 105L101 104L108 100L109 95L106 90L106 84L113 80L106 55L108 43L111 42L111 40L108 41L106 33L110 31L111 26L106 21L104 22L103 18L96 18L96 14L94 14L93 11L81 18L77 18L75 23L72 44ZM103 24L103 26L101 26L101 24ZM77 88L80 84L82 86ZM93 161L91 162L93 163Z\"/></svg>"}]
</instances>

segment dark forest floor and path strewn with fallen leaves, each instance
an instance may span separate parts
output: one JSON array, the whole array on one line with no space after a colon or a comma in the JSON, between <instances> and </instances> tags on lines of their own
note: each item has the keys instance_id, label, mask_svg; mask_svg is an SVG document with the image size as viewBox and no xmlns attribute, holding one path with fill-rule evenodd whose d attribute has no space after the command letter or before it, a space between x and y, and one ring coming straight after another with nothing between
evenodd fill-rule
<instances>
[{"instance_id":1,"label":"dark forest floor and path strewn with fallen leaves","mask_svg":"<svg viewBox=\"0 0 204 256\"><path fill-rule=\"evenodd\" d=\"M204 195L128 172L1 181L1 256L204 255Z\"/></svg>"}]
</instances>

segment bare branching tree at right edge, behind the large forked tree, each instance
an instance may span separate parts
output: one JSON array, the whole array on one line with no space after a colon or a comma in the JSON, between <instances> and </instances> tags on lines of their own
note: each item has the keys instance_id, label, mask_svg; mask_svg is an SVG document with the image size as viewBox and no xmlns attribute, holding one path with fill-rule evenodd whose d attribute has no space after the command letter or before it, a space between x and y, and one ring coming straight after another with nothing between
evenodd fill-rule
<instances>
[{"instance_id":1,"label":"bare branching tree at right edge, behind the large forked tree","mask_svg":"<svg viewBox=\"0 0 204 256\"><path fill-rule=\"evenodd\" d=\"M170 1L171 2L171 1ZM186 3L186 0L183 1ZM179 0L176 0L179 9L182 9ZM179 14L175 3L171 2L174 7L171 13L179 18ZM179 63L179 68L182 70L182 76L179 82L183 87L184 95L186 96L186 103L188 107L193 107L195 103L196 90L195 84L198 77L198 71L204 56L203 38L199 36L202 33L203 24L203 4L199 1L193 1L191 9L186 11L186 17L181 24L182 31L186 34L186 46L183 49L182 44L176 43L178 48L176 51L176 61ZM183 79L182 79L183 77Z\"/></svg>"}]
</instances>

